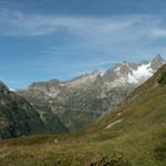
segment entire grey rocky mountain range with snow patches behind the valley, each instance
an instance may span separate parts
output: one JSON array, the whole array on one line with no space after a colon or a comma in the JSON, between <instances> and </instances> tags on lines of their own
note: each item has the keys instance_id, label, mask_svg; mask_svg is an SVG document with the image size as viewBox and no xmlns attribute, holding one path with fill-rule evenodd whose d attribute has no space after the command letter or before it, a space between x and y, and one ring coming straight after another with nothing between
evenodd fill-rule
<instances>
[{"instance_id":1,"label":"entire grey rocky mountain range with snow patches behind the valley","mask_svg":"<svg viewBox=\"0 0 166 166\"><path fill-rule=\"evenodd\" d=\"M94 71L66 82L51 80L32 83L29 89L17 93L24 96L43 118L48 113L58 116L73 131L115 108L164 63L160 55L139 64L122 62L104 74Z\"/></svg>"}]
</instances>

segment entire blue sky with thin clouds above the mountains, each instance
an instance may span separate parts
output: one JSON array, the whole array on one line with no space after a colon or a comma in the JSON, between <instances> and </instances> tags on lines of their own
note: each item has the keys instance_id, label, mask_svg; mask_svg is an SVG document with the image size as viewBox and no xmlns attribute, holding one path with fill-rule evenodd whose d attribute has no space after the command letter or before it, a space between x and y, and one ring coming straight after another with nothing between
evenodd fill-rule
<instances>
[{"instance_id":1,"label":"entire blue sky with thin clouds above the mountains","mask_svg":"<svg viewBox=\"0 0 166 166\"><path fill-rule=\"evenodd\" d=\"M166 58L165 0L0 0L0 80L70 80Z\"/></svg>"}]
</instances>

